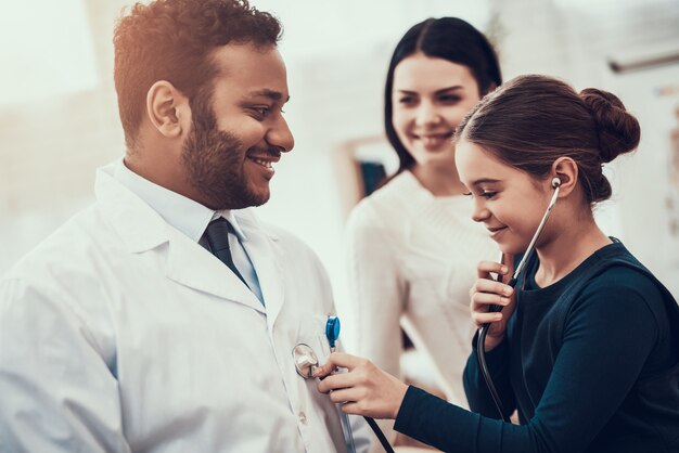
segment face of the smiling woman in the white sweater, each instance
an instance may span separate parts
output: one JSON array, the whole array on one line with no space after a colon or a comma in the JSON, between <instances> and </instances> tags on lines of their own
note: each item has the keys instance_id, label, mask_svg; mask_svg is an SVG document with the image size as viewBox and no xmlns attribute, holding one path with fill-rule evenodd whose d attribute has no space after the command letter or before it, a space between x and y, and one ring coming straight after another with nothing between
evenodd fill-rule
<instances>
[{"instance_id":1,"label":"face of the smiling woman in the white sweater","mask_svg":"<svg viewBox=\"0 0 679 453\"><path fill-rule=\"evenodd\" d=\"M415 53L394 69L392 122L418 165L454 163L450 139L478 100L466 66Z\"/></svg>"}]
</instances>

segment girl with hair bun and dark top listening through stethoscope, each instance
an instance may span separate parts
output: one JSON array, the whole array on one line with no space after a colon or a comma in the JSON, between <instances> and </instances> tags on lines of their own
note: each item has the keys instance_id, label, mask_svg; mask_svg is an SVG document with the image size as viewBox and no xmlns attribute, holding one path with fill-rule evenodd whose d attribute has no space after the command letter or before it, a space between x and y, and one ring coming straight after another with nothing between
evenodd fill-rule
<instances>
[{"instance_id":1,"label":"girl with hair bun and dark top listening through stethoscope","mask_svg":"<svg viewBox=\"0 0 679 453\"><path fill-rule=\"evenodd\" d=\"M395 428L458 452L679 452L679 308L617 240L597 226L611 196L603 164L633 150L639 124L605 91L576 93L542 76L486 96L456 132L456 161L483 222L508 257L481 262L472 318L485 342L504 423L474 350L464 384L472 411L407 387L367 360L334 354L349 373L321 391L344 410L396 418ZM513 273L559 186L551 217L515 289ZM491 312L490 306L501 306Z\"/></svg>"}]
</instances>

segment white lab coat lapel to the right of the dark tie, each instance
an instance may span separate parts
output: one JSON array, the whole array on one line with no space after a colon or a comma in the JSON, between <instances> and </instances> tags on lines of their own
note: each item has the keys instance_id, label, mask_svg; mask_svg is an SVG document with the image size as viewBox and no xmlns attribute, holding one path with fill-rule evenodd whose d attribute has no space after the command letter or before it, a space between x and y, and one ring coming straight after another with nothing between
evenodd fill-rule
<instances>
[{"instance_id":1,"label":"white lab coat lapel to the right of the dark tie","mask_svg":"<svg viewBox=\"0 0 679 453\"><path fill-rule=\"evenodd\" d=\"M249 209L239 211L236 219L247 236L247 241L243 242L243 247L257 273L266 305L267 320L269 326L272 327L285 299L283 251L278 245L278 236L265 231Z\"/></svg>"}]
</instances>

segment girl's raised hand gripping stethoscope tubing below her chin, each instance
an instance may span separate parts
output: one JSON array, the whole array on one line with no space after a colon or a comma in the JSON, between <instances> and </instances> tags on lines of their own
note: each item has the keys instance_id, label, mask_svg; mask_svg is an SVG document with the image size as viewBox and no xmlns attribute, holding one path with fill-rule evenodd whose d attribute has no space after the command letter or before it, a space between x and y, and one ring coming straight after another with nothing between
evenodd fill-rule
<instances>
[{"instance_id":1,"label":"girl's raised hand gripping stethoscope tubing below her chin","mask_svg":"<svg viewBox=\"0 0 679 453\"><path fill-rule=\"evenodd\" d=\"M514 257L502 256L504 264L492 261L482 261L477 267L476 283L470 290L472 302L472 320L476 326L490 323L488 334L486 336L486 352L495 349L504 339L507 323L514 312L516 297L514 289L504 284L509 282L514 272ZM492 279L491 272L497 273L502 279L500 282ZM491 306L501 306L499 312L491 312Z\"/></svg>"}]
</instances>

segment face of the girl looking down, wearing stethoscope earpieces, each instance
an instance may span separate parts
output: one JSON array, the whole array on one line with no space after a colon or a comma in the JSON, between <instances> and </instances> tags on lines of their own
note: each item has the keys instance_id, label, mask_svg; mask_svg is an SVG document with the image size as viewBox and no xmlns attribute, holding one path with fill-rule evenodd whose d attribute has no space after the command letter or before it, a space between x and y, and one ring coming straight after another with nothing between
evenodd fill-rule
<instances>
[{"instance_id":1,"label":"face of the girl looking down, wearing stethoscope earpieces","mask_svg":"<svg viewBox=\"0 0 679 453\"><path fill-rule=\"evenodd\" d=\"M510 167L464 139L458 143L456 164L460 180L474 198L472 219L485 223L503 253L523 253L553 194L551 181L537 180ZM536 246L551 241L550 223Z\"/></svg>"}]
</instances>

